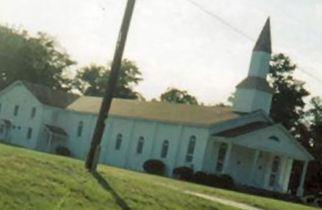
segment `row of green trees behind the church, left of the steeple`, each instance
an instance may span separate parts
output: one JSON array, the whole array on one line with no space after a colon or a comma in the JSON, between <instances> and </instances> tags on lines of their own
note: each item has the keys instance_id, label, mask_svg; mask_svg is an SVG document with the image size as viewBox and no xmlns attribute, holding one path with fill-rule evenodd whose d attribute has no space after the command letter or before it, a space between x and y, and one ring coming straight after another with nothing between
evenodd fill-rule
<instances>
[{"instance_id":1,"label":"row of green trees behind the church, left of the steeple","mask_svg":"<svg viewBox=\"0 0 322 210\"><path fill-rule=\"evenodd\" d=\"M76 61L48 34L31 36L27 31L0 25L0 89L16 80L24 80L55 90L103 96L110 75L110 63L82 67L71 78L70 70L75 65ZM142 73L135 62L124 59L115 97L145 100L135 91L142 80ZM155 100L198 104L197 99L187 91L176 88L169 88Z\"/></svg>"}]
</instances>

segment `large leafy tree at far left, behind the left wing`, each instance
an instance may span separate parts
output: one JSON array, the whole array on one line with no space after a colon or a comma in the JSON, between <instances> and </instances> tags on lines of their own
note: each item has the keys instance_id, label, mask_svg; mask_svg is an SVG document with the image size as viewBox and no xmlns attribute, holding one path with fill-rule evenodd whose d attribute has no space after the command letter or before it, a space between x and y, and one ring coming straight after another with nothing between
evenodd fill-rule
<instances>
[{"instance_id":1,"label":"large leafy tree at far left, behind the left wing","mask_svg":"<svg viewBox=\"0 0 322 210\"><path fill-rule=\"evenodd\" d=\"M0 25L0 88L25 80L66 90L67 70L73 64L49 35L30 36L27 31Z\"/></svg>"}]
</instances>

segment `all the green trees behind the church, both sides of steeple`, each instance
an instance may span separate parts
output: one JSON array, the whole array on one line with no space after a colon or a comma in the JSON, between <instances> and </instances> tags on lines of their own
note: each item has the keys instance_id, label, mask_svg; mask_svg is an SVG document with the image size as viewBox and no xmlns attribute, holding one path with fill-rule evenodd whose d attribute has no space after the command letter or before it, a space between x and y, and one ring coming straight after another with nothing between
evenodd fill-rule
<instances>
[{"instance_id":1,"label":"all the green trees behind the church, both sides of steeple","mask_svg":"<svg viewBox=\"0 0 322 210\"><path fill-rule=\"evenodd\" d=\"M56 90L102 96L106 91L110 64L82 67L71 78L70 70L75 64L48 34L31 36L24 30L0 26L0 89L16 80L25 80ZM322 99L311 97L306 106L305 101L310 93L303 81L294 78L296 69L297 66L288 56L276 54L272 57L269 73L269 82L274 90L271 117L283 124L316 157L319 167L309 168L307 185L312 182L322 185ZM142 80L136 63L123 60L115 97L145 100L142 94L135 91ZM177 88L168 88L153 100L200 104L195 96Z\"/></svg>"}]
</instances>

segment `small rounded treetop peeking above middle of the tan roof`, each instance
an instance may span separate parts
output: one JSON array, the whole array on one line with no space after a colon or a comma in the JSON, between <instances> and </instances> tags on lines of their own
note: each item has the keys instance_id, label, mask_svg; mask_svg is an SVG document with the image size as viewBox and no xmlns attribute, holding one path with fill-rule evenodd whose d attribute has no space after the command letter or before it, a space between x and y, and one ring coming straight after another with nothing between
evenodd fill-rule
<instances>
[{"instance_id":1,"label":"small rounded treetop peeking above middle of the tan roof","mask_svg":"<svg viewBox=\"0 0 322 210\"><path fill-rule=\"evenodd\" d=\"M176 103L176 104L191 104L197 105L196 97L190 95L186 90L176 88L168 88L168 90L160 96L161 101Z\"/></svg>"}]
</instances>

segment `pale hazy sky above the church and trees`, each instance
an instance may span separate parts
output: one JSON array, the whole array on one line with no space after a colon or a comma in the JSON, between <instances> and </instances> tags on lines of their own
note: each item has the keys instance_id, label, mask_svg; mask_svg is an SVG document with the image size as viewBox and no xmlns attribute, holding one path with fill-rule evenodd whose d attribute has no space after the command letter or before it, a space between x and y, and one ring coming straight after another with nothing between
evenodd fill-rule
<instances>
[{"instance_id":1,"label":"pale hazy sky above the church and trees","mask_svg":"<svg viewBox=\"0 0 322 210\"><path fill-rule=\"evenodd\" d=\"M321 0L193 1L252 40L188 0L137 0L124 57L139 66L144 81L136 90L147 99L176 87L206 104L227 101L247 75L254 40L268 16L273 52L290 56L301 69L296 77L312 95L322 96ZM0 24L50 34L77 61L75 71L111 61L125 5L126 0L0 0Z\"/></svg>"}]
</instances>

